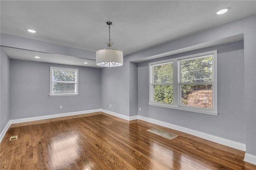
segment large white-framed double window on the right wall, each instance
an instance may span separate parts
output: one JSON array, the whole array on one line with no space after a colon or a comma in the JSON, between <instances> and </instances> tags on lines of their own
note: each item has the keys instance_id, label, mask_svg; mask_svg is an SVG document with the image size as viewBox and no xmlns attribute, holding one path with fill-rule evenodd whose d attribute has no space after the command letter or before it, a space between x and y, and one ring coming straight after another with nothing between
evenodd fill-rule
<instances>
[{"instance_id":1,"label":"large white-framed double window on the right wall","mask_svg":"<svg viewBox=\"0 0 256 170\"><path fill-rule=\"evenodd\" d=\"M149 104L217 115L217 50L150 63Z\"/></svg>"}]
</instances>

